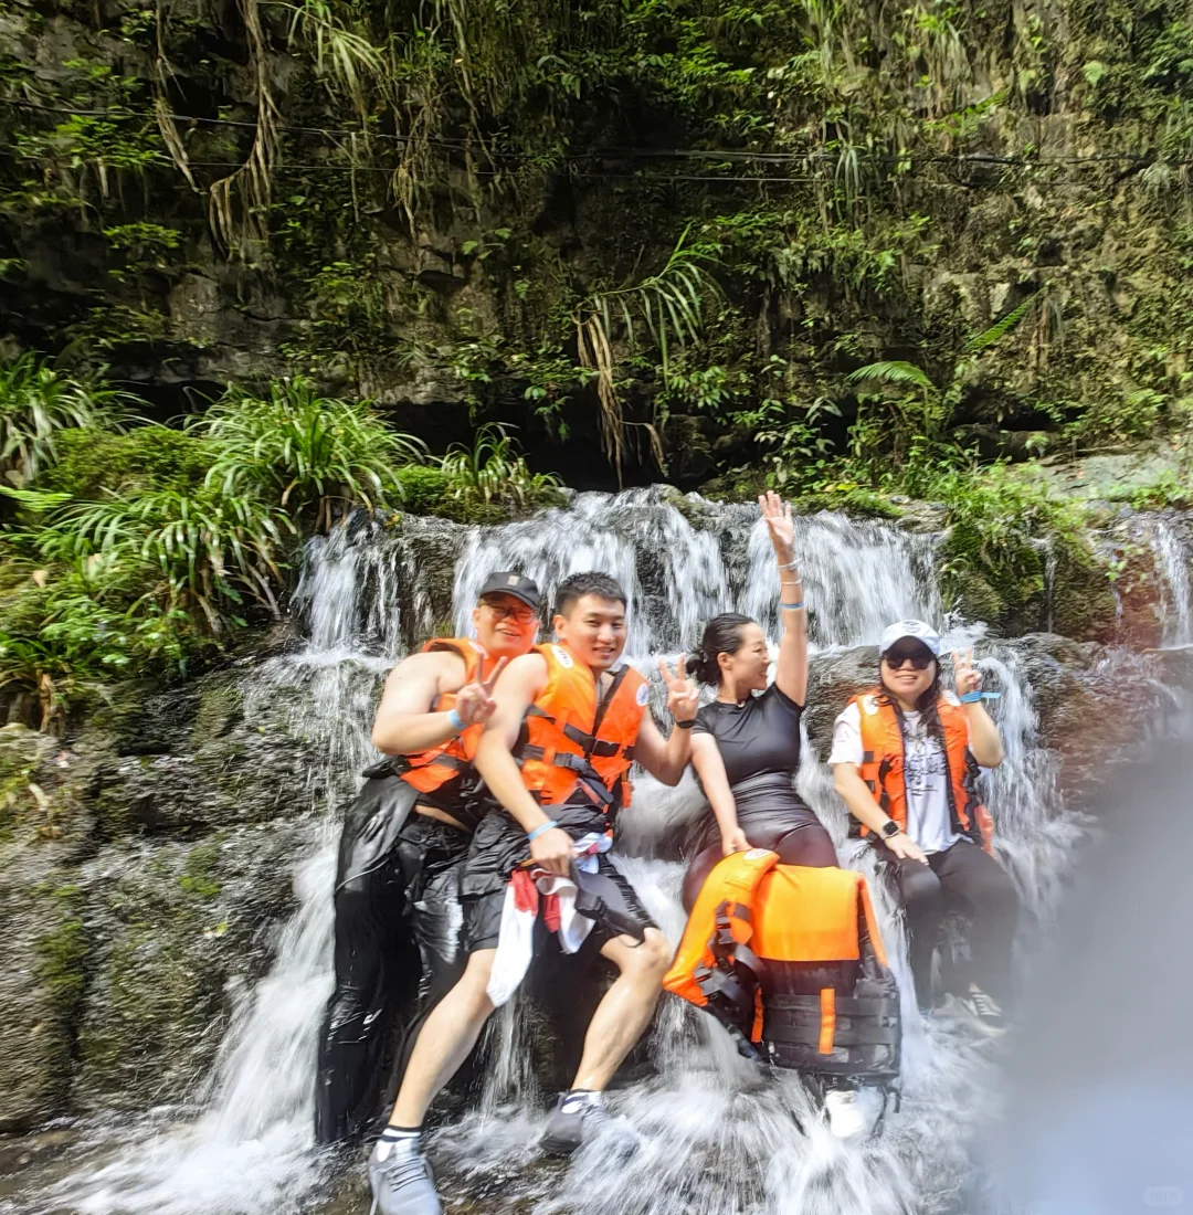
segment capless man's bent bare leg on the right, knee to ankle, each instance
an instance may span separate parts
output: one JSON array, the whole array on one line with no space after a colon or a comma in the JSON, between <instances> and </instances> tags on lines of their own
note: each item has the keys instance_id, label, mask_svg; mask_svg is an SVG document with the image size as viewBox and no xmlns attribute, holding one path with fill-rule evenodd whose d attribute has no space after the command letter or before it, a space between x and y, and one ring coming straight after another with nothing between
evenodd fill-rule
<instances>
[{"instance_id":1,"label":"capless man's bent bare leg on the right, knee to ankle","mask_svg":"<svg viewBox=\"0 0 1193 1215\"><path fill-rule=\"evenodd\" d=\"M648 928L640 944L633 937L617 937L600 953L621 974L596 1006L584 1035L584 1053L572 1087L588 1091L600 1091L609 1084L650 1023L672 949L657 928Z\"/></svg>"}]
</instances>

